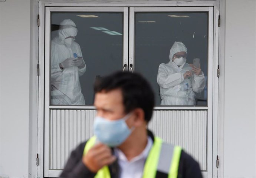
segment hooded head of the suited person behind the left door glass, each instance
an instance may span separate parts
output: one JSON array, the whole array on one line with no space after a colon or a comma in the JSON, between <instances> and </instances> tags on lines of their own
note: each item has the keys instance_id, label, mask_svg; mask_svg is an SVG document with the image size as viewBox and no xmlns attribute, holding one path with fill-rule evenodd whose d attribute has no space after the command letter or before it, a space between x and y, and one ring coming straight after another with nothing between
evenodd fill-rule
<instances>
[{"instance_id":1,"label":"hooded head of the suited person behind the left door glass","mask_svg":"<svg viewBox=\"0 0 256 178\"><path fill-rule=\"evenodd\" d=\"M76 35L76 24L72 20L65 19L60 23L59 38L61 40L65 40L66 37L75 37Z\"/></svg>"}]
</instances>

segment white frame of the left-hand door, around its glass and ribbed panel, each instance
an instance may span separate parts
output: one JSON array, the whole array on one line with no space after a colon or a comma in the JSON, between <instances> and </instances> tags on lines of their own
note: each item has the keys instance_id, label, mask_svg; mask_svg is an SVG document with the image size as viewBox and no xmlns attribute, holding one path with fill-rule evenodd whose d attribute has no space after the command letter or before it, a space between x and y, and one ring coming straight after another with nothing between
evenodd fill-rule
<instances>
[{"instance_id":1,"label":"white frame of the left-hand door, around its glass and ribbed panel","mask_svg":"<svg viewBox=\"0 0 256 178\"><path fill-rule=\"evenodd\" d=\"M128 8L127 7L45 7L45 73L44 73L44 115L49 116L50 109L95 109L93 106L76 106L76 105L50 105L50 13L51 12L123 12L124 13L124 35L123 35L123 64L128 63ZM43 74L41 74L43 75ZM43 89L43 88L42 88ZM47 97L48 96L48 97ZM41 111L42 112L42 111ZM43 114L43 113L42 113ZM49 118L49 117L48 117ZM44 121L45 132L44 138L49 138L49 119ZM50 138L49 138L50 139ZM48 139L48 140L49 140ZM44 142L44 154L49 155L49 142ZM49 157L44 157L44 177L58 177L60 170L49 169Z\"/></svg>"}]
</instances>

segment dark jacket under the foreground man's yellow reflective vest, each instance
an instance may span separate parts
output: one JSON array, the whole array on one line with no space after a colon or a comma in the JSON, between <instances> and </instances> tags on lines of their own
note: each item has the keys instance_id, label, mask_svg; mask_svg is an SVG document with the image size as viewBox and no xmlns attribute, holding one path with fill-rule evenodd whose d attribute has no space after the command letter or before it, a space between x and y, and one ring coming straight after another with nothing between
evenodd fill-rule
<instances>
[{"instance_id":1,"label":"dark jacket under the foreground man's yellow reflective vest","mask_svg":"<svg viewBox=\"0 0 256 178\"><path fill-rule=\"evenodd\" d=\"M148 131L148 135L154 141L154 135ZM68 162L60 174L60 178L93 178L96 174L91 172L82 162L83 150L86 142L81 143L68 159ZM119 166L117 160L109 165L111 178L118 178ZM168 174L157 171L156 178L167 178ZM178 168L178 178L202 178L198 163L186 152L181 151L180 164Z\"/></svg>"}]
</instances>

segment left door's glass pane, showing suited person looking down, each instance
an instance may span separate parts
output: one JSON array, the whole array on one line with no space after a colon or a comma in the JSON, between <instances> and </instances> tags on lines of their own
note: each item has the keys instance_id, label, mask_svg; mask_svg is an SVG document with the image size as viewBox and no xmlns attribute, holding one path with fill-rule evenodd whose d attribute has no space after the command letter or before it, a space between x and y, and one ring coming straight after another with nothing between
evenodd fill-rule
<instances>
[{"instance_id":1,"label":"left door's glass pane, showing suited person looking down","mask_svg":"<svg viewBox=\"0 0 256 178\"><path fill-rule=\"evenodd\" d=\"M51 104L92 105L97 77L122 69L123 13L51 13Z\"/></svg>"}]
</instances>

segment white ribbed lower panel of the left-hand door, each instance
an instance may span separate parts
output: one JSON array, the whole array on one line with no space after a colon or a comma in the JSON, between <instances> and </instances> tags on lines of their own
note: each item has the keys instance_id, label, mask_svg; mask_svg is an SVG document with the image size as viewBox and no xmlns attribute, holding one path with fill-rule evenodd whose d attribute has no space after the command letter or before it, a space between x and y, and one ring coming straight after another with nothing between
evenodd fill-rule
<instances>
[{"instance_id":1,"label":"white ribbed lower panel of the left-hand door","mask_svg":"<svg viewBox=\"0 0 256 178\"><path fill-rule=\"evenodd\" d=\"M63 169L70 152L93 135L95 110L50 110L50 169Z\"/></svg>"}]
</instances>

